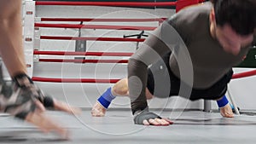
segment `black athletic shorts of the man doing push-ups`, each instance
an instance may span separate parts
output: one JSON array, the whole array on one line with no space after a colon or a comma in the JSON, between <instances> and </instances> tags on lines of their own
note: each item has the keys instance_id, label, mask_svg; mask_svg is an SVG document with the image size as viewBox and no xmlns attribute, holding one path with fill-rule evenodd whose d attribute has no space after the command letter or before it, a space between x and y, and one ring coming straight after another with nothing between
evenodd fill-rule
<instances>
[{"instance_id":1,"label":"black athletic shorts of the man doing push-ups","mask_svg":"<svg viewBox=\"0 0 256 144\"><path fill-rule=\"evenodd\" d=\"M169 66L170 53L163 57L163 60L155 62L152 66L148 67L148 84L147 88L150 93L156 97L166 98L172 95L178 95L180 89L180 79L177 78L171 71ZM163 66L166 65L166 66ZM154 73L154 75L153 75ZM207 89L192 89L191 95L180 95L191 101L204 99L204 100L217 100L225 95L227 84L230 83L233 71L230 69L223 78L219 79L216 84ZM154 79L154 76L159 76L159 79ZM166 77L167 76L167 77ZM165 79L166 78L166 79ZM169 84L168 84L169 83ZM157 89L154 89L157 85ZM168 89L168 91L166 91ZM189 88L189 86L187 87Z\"/></svg>"}]
</instances>

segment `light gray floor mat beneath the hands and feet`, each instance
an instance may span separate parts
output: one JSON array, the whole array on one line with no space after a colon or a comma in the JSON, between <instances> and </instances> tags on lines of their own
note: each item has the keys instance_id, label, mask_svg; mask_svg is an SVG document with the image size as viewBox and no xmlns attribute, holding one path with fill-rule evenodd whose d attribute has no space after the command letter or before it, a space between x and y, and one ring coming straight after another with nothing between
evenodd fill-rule
<instances>
[{"instance_id":1,"label":"light gray floor mat beneath the hands and feet","mask_svg":"<svg viewBox=\"0 0 256 144\"><path fill-rule=\"evenodd\" d=\"M256 117L253 116L222 118L213 112L160 112L162 117L179 117L173 118L174 124L159 127L133 124L129 111L110 111L104 118L92 118L90 111L83 111L81 116L62 112L48 114L70 130L70 141L62 141L53 133L42 134L30 124L3 116L0 117L0 143L240 144L256 141Z\"/></svg>"}]
</instances>

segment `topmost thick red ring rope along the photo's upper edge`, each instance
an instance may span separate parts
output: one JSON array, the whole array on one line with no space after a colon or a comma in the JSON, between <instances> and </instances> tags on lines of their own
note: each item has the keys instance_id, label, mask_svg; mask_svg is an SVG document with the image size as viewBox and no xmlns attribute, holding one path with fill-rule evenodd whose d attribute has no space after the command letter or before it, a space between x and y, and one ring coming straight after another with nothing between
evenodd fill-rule
<instances>
[{"instance_id":1,"label":"topmost thick red ring rope along the photo's upper edge","mask_svg":"<svg viewBox=\"0 0 256 144\"><path fill-rule=\"evenodd\" d=\"M114 7L170 7L176 6L176 2L47 2L36 1L36 5L80 5L80 6L114 6Z\"/></svg>"}]
</instances>

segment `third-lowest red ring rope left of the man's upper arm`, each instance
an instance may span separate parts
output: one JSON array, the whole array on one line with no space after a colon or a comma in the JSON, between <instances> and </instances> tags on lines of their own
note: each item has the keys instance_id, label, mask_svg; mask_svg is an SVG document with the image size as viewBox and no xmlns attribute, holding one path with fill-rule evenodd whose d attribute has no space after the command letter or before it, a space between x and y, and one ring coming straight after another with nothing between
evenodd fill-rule
<instances>
[{"instance_id":1,"label":"third-lowest red ring rope left of the man's upper arm","mask_svg":"<svg viewBox=\"0 0 256 144\"><path fill-rule=\"evenodd\" d=\"M111 52L72 52L72 51L38 51L34 55L88 55L88 56L131 56L133 53L111 53Z\"/></svg>"}]
</instances>

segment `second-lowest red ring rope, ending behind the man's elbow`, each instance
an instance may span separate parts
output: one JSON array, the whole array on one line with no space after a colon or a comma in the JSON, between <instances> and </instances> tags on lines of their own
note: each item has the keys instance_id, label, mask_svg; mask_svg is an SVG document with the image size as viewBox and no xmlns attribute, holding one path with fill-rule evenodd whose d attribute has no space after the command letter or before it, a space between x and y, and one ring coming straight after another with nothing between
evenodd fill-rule
<instances>
[{"instance_id":1,"label":"second-lowest red ring rope, ending behind the man's elbow","mask_svg":"<svg viewBox=\"0 0 256 144\"><path fill-rule=\"evenodd\" d=\"M80 60L80 59L39 59L42 62L76 62L76 63L128 63L128 60Z\"/></svg>"}]
</instances>

